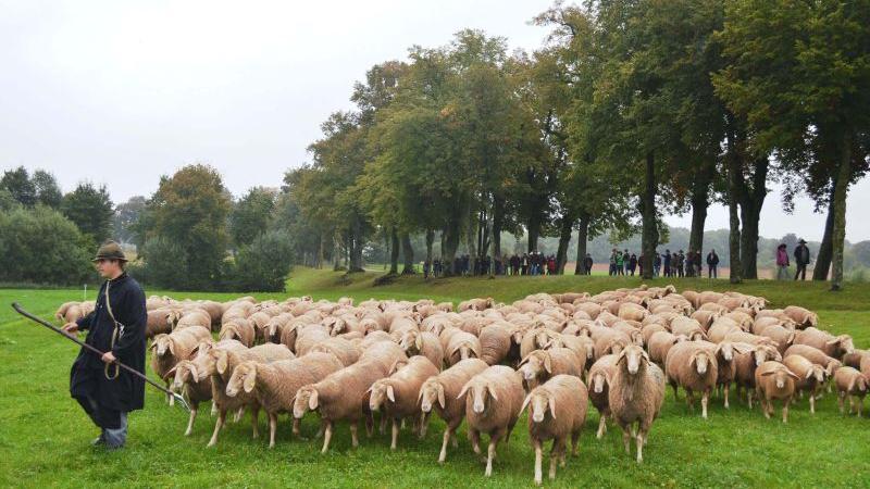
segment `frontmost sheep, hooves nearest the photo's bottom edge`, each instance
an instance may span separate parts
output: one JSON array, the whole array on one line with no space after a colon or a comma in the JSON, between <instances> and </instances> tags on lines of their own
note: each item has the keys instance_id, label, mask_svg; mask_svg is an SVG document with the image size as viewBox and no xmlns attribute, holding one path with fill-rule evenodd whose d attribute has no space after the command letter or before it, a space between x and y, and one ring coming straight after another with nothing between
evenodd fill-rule
<instances>
[{"instance_id":1,"label":"frontmost sheep, hooves nearest the photo's bottom edge","mask_svg":"<svg viewBox=\"0 0 870 489\"><path fill-rule=\"evenodd\" d=\"M549 478L556 478L557 460L566 464L566 440L571 437L571 454L577 454L577 440L586 422L588 394L581 379L557 375L536 387L523 401L520 412L529 408L529 438L535 449L535 484L543 479L544 442L552 440Z\"/></svg>"}]
</instances>

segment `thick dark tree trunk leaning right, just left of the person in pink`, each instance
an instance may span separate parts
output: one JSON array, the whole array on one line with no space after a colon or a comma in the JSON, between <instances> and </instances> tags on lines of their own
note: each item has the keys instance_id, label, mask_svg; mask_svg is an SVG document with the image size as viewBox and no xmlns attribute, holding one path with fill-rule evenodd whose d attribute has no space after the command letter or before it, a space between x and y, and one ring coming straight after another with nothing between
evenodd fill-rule
<instances>
[{"instance_id":1,"label":"thick dark tree trunk leaning right, just left of the person in pink","mask_svg":"<svg viewBox=\"0 0 870 489\"><path fill-rule=\"evenodd\" d=\"M751 189L743 188L741 195L741 265L742 278L758 278L758 221L761 206L768 195L768 159L759 159L755 164ZM741 178L743 180L743 178ZM745 185L745 184L744 184Z\"/></svg>"}]
</instances>

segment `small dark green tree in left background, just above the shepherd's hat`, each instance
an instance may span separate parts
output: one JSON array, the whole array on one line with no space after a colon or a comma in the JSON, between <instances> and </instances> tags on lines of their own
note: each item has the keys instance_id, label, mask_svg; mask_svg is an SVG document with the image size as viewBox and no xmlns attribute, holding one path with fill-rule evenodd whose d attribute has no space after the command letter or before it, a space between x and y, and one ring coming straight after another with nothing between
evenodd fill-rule
<instances>
[{"instance_id":1,"label":"small dark green tree in left background, just above the shepherd's hat","mask_svg":"<svg viewBox=\"0 0 870 489\"><path fill-rule=\"evenodd\" d=\"M103 242L111 234L114 205L104 185L97 188L89 181L78 184L63 196L61 212L95 243Z\"/></svg>"}]
</instances>

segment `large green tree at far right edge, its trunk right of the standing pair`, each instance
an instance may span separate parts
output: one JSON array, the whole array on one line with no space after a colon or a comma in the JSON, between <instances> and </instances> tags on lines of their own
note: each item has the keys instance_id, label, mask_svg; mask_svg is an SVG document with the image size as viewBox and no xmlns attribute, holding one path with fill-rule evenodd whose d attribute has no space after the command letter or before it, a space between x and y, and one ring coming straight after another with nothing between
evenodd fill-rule
<instances>
[{"instance_id":1,"label":"large green tree at far right edge, its trunk right of the standing pair","mask_svg":"<svg viewBox=\"0 0 870 489\"><path fill-rule=\"evenodd\" d=\"M843 287L846 195L867 164L854 151L870 126L868 25L870 0L729 2L721 34L729 64L713 79L761 152L831 145L820 156L833 168L832 290Z\"/></svg>"}]
</instances>

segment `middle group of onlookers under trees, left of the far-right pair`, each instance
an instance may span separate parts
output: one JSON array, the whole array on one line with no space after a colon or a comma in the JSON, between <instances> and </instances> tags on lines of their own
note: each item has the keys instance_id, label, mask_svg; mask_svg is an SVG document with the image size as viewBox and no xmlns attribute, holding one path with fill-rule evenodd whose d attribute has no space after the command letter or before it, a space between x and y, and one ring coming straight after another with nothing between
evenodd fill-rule
<instances>
[{"instance_id":1,"label":"middle group of onlookers under trees, left of the far-right pair","mask_svg":"<svg viewBox=\"0 0 870 489\"><path fill-rule=\"evenodd\" d=\"M592 258L587 254L586 262L589 263L588 268L592 268ZM707 276L709 278L718 277L719 255L716 250L710 250L707 253ZM584 262L585 265L585 262ZM585 266L584 266L585 267ZM629 250L619 251L613 248L610 251L610 263L608 267L608 275L631 275L634 276L635 271L638 274L644 272L644 255L639 256L635 253L629 253ZM701 252L692 251L671 253L671 250L666 249L664 253L656 252L652 258L652 276L658 277L663 275L666 277L700 277L704 275L704 265L701 262Z\"/></svg>"}]
</instances>

